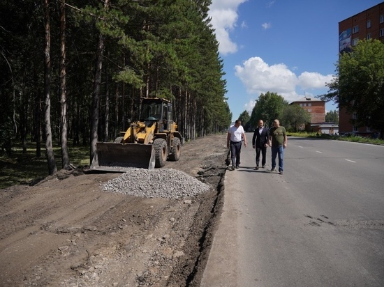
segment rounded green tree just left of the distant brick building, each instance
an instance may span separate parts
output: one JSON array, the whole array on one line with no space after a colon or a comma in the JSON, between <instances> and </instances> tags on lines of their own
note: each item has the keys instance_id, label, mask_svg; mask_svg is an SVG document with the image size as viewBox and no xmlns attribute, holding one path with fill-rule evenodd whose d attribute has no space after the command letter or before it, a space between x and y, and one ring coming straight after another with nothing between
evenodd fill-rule
<instances>
[{"instance_id":1,"label":"rounded green tree just left of the distant brick building","mask_svg":"<svg viewBox=\"0 0 384 287\"><path fill-rule=\"evenodd\" d=\"M280 122L287 130L297 132L301 130L306 123L311 121L311 114L300 107L298 104L290 104L283 109Z\"/></svg>"}]
</instances>

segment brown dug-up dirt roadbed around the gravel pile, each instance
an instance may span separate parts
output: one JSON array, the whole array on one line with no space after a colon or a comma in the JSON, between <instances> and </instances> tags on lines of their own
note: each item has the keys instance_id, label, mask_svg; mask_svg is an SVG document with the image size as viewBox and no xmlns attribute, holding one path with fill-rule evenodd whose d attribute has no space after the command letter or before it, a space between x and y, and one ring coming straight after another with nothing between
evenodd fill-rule
<instances>
[{"instance_id":1,"label":"brown dug-up dirt roadbed around the gravel pile","mask_svg":"<svg viewBox=\"0 0 384 287\"><path fill-rule=\"evenodd\" d=\"M0 190L0 286L199 286L227 155L221 134L167 162L212 187L191 201L103 192L121 174L82 170Z\"/></svg>"}]
</instances>

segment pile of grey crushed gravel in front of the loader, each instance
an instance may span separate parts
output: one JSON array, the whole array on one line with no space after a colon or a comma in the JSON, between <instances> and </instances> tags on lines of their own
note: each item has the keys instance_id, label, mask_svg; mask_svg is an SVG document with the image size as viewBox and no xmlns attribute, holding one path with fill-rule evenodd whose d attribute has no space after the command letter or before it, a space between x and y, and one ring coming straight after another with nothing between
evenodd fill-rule
<instances>
[{"instance_id":1,"label":"pile of grey crushed gravel in front of the loader","mask_svg":"<svg viewBox=\"0 0 384 287\"><path fill-rule=\"evenodd\" d=\"M209 185L176 169L128 169L103 183L101 190L140 197L184 199L209 190Z\"/></svg>"}]
</instances>

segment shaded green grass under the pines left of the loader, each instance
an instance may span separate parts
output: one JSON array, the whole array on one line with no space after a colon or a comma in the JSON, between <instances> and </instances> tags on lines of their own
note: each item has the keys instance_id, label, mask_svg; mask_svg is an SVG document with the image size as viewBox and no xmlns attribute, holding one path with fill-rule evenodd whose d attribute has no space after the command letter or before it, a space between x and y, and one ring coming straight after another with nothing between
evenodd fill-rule
<instances>
[{"instance_id":1,"label":"shaded green grass under the pines left of the loader","mask_svg":"<svg viewBox=\"0 0 384 287\"><path fill-rule=\"evenodd\" d=\"M89 166L89 146L68 146L69 162L74 166ZM54 146L54 160L57 169L61 169L61 149ZM28 184L38 178L48 176L48 164L45 148L41 156L36 157L36 143L28 143L27 153L22 146L12 148L11 155L0 156L0 189L11 185Z\"/></svg>"}]
</instances>

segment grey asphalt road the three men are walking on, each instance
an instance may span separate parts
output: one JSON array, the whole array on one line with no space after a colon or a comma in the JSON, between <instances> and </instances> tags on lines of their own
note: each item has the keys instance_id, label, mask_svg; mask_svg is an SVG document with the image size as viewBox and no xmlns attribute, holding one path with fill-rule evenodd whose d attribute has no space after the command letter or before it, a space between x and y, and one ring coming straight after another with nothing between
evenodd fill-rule
<instances>
[{"instance_id":1,"label":"grey asphalt road the three men are walking on","mask_svg":"<svg viewBox=\"0 0 384 287\"><path fill-rule=\"evenodd\" d=\"M283 175L254 157L226 173L201 286L384 286L384 146L288 138Z\"/></svg>"}]
</instances>

